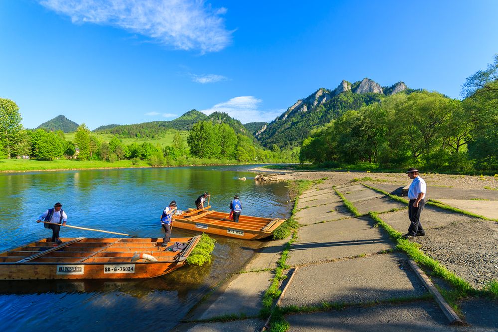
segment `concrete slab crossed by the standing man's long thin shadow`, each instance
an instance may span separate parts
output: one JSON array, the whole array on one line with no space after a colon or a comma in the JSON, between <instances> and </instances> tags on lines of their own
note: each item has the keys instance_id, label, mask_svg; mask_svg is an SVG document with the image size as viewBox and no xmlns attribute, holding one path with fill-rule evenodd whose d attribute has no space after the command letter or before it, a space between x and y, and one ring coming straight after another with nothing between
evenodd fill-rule
<instances>
[{"instance_id":1,"label":"concrete slab crossed by the standing man's long thin shadow","mask_svg":"<svg viewBox=\"0 0 498 332\"><path fill-rule=\"evenodd\" d=\"M370 218L362 217L301 227L287 263L294 266L393 248L389 237L372 225Z\"/></svg>"}]
</instances>

